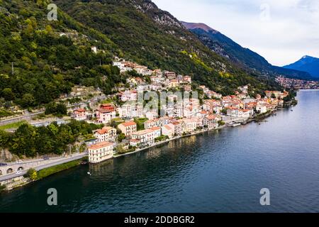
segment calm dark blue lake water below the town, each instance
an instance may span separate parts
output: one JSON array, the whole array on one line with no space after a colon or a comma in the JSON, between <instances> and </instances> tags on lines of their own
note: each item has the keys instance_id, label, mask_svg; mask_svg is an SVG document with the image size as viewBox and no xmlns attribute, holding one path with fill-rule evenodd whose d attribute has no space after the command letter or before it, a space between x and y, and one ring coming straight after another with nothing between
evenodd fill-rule
<instances>
[{"instance_id":1,"label":"calm dark blue lake water below the town","mask_svg":"<svg viewBox=\"0 0 319 227\"><path fill-rule=\"evenodd\" d=\"M1 194L0 212L318 212L319 91L298 100L260 125L183 138ZM52 187L55 207L46 202ZM271 206L259 204L264 187Z\"/></svg>"}]
</instances>

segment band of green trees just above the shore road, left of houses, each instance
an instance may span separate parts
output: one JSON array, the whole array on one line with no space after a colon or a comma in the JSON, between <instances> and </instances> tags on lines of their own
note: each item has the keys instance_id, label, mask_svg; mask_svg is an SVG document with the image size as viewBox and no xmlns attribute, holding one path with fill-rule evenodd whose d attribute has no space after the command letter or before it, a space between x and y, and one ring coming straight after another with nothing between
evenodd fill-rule
<instances>
[{"instance_id":1,"label":"band of green trees just above the shore road, left of houses","mask_svg":"<svg viewBox=\"0 0 319 227\"><path fill-rule=\"evenodd\" d=\"M0 131L0 147L9 148L10 152L22 157L35 157L45 154L62 155L81 136L91 135L102 125L86 123L85 121L70 121L70 123L34 127L22 124L14 133Z\"/></svg>"}]
</instances>

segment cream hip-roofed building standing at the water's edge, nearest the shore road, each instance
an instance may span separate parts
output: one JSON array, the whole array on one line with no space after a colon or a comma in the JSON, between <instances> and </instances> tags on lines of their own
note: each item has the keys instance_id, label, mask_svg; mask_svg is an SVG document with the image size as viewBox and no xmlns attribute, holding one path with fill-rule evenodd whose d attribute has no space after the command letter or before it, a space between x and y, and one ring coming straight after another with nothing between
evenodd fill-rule
<instances>
[{"instance_id":1,"label":"cream hip-roofed building standing at the water's edge, nearest the shore road","mask_svg":"<svg viewBox=\"0 0 319 227\"><path fill-rule=\"evenodd\" d=\"M89 146L89 162L99 163L113 157L113 143L101 142Z\"/></svg>"}]
</instances>

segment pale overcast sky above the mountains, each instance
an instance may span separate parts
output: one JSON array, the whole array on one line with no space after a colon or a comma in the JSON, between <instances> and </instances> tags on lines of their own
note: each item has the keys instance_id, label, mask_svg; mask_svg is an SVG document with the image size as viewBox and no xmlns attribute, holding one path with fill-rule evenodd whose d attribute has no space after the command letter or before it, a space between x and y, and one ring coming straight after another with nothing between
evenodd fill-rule
<instances>
[{"instance_id":1,"label":"pale overcast sky above the mountains","mask_svg":"<svg viewBox=\"0 0 319 227\"><path fill-rule=\"evenodd\" d=\"M206 23L273 65L319 57L319 0L152 0L180 21Z\"/></svg>"}]
</instances>

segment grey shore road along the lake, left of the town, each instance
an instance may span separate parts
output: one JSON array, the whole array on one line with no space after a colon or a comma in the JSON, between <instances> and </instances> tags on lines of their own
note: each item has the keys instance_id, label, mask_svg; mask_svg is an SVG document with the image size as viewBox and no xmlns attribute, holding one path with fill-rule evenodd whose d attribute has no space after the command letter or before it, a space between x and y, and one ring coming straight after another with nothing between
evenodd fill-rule
<instances>
[{"instance_id":1,"label":"grey shore road along the lake, left of the town","mask_svg":"<svg viewBox=\"0 0 319 227\"><path fill-rule=\"evenodd\" d=\"M57 160L56 162L51 162L51 163L48 163L46 165L39 165L38 167L34 167L34 169L37 170L37 171L43 170L43 169L46 169L48 167L52 167L52 166L55 166L55 165L63 164L65 162L72 162L74 160L79 160L82 157L85 157L87 155L88 155L88 153L81 153L79 155L73 155L72 157L62 157L59 160ZM0 182L4 181L4 180L7 180L7 179L12 179L12 178L15 178L15 177L23 176L27 172L28 172L28 170L21 170L21 174L18 174L18 175L16 173L12 173L10 175L0 176Z\"/></svg>"}]
</instances>

